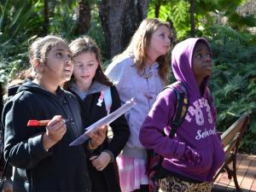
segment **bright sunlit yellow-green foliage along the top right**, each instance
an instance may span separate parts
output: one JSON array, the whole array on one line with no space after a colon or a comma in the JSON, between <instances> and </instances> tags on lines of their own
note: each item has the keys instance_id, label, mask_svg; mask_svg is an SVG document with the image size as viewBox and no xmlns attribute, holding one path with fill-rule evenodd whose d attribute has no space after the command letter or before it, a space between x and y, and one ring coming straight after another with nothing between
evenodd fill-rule
<instances>
[{"instance_id":1,"label":"bright sunlit yellow-green foliage along the top right","mask_svg":"<svg viewBox=\"0 0 256 192\"><path fill-rule=\"evenodd\" d=\"M189 0L152 0L149 3L148 18L154 18L156 5L160 3L161 20L171 20L177 32L177 40L190 34L190 1ZM238 6L246 0L197 0L195 1L195 32L202 35L202 30L213 25L231 26L238 31L244 31L247 26L256 26L254 15L242 16L236 12Z\"/></svg>"}]
</instances>

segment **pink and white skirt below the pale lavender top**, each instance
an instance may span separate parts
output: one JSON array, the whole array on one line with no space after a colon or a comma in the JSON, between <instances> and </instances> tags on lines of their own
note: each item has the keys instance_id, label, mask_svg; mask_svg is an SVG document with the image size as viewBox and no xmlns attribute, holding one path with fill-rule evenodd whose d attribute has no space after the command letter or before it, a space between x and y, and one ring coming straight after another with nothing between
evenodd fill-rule
<instances>
[{"instance_id":1,"label":"pink and white skirt below the pale lavender top","mask_svg":"<svg viewBox=\"0 0 256 192\"><path fill-rule=\"evenodd\" d=\"M141 184L148 184L148 177L145 174L146 160L127 157L122 154L119 154L116 160L122 192L140 189Z\"/></svg>"}]
</instances>

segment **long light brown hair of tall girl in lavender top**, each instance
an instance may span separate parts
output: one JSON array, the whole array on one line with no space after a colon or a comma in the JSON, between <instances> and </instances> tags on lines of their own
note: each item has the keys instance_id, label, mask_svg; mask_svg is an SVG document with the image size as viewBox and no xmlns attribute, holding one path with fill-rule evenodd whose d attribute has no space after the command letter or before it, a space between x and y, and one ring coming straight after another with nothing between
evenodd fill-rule
<instances>
[{"instance_id":1,"label":"long light brown hair of tall girl in lavender top","mask_svg":"<svg viewBox=\"0 0 256 192\"><path fill-rule=\"evenodd\" d=\"M160 21L158 19L145 19L142 21L137 31L131 38L130 44L127 48L120 54L113 57L113 61L119 59L124 55L132 55L134 57L134 65L137 67L137 72L140 73L144 69L147 58L147 49L150 39L153 33L160 27L167 26L170 28L169 23ZM167 81L169 66L167 55L160 55L156 61L160 64L159 75L163 81Z\"/></svg>"}]
</instances>

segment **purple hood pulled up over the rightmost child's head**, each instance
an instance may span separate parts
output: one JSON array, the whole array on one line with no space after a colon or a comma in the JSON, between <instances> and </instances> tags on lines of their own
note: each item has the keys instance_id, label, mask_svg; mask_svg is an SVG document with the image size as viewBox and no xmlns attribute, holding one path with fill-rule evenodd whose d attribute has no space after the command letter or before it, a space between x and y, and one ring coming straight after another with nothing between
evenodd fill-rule
<instances>
[{"instance_id":1,"label":"purple hood pulled up over the rightmost child's head","mask_svg":"<svg viewBox=\"0 0 256 192\"><path fill-rule=\"evenodd\" d=\"M183 81L189 90L189 94L200 96L195 74L192 67L193 52L197 42L204 42L211 51L210 45L204 38L187 38L175 45L172 49L172 72L177 81ZM212 55L212 53L211 53ZM202 89L205 91L209 77L204 79Z\"/></svg>"}]
</instances>

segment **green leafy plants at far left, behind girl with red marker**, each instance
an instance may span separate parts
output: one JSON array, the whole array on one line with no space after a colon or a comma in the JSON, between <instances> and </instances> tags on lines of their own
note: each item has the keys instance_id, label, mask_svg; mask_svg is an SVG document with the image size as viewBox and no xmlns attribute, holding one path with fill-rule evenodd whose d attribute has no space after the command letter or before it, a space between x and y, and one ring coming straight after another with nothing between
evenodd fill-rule
<instances>
[{"instance_id":1,"label":"green leafy plants at far left, behind girl with red marker","mask_svg":"<svg viewBox=\"0 0 256 192\"><path fill-rule=\"evenodd\" d=\"M40 1L0 1L0 81L6 83L27 67L27 46L32 34L42 32Z\"/></svg>"}]
</instances>

